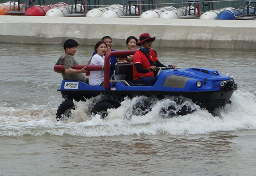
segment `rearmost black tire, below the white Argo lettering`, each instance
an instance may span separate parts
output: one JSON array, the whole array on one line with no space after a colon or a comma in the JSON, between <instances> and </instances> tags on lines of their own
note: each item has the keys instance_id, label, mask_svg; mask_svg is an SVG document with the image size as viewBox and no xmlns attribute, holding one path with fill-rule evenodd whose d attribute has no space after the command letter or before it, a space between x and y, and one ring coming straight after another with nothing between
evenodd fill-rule
<instances>
[{"instance_id":1,"label":"rearmost black tire, below the white Argo lettering","mask_svg":"<svg viewBox=\"0 0 256 176\"><path fill-rule=\"evenodd\" d=\"M73 100L66 99L64 100L60 106L58 107L57 113L56 113L56 119L59 121L60 118L63 116L66 116L67 118L71 115L71 110L75 110L76 107L74 105Z\"/></svg>"}]
</instances>

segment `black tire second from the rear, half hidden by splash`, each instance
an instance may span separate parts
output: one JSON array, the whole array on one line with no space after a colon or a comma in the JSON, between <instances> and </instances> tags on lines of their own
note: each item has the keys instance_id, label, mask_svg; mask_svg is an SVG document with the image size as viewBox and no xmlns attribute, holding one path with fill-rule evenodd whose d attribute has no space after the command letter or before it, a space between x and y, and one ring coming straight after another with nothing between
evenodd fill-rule
<instances>
[{"instance_id":1,"label":"black tire second from the rear, half hidden by splash","mask_svg":"<svg viewBox=\"0 0 256 176\"><path fill-rule=\"evenodd\" d=\"M115 108L110 102L98 102L93 108L92 113L99 114L101 118L105 118L108 115L108 109Z\"/></svg>"}]
</instances>

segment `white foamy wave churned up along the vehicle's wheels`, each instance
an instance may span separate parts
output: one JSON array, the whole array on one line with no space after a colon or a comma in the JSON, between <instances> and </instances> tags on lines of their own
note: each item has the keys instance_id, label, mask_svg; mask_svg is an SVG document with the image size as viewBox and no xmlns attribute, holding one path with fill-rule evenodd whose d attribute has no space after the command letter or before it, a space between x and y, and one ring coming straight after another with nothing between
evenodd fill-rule
<instances>
[{"instance_id":1,"label":"white foamy wave churned up along the vehicle's wheels","mask_svg":"<svg viewBox=\"0 0 256 176\"><path fill-rule=\"evenodd\" d=\"M99 98L99 97L96 97ZM144 97L126 98L117 109L110 109L102 120L99 115L87 115L95 99L76 102L73 118L56 120L56 108L33 106L23 109L0 107L0 136L22 137L24 135L71 135L83 137L119 135L197 135L216 131L256 130L255 96L237 90L231 104L218 108L216 113L201 110L189 100L192 114L170 118L160 113L172 100L163 99L150 104L150 110L140 115L134 104ZM135 114L135 115L134 115ZM213 115L214 114L214 115Z\"/></svg>"}]
</instances>

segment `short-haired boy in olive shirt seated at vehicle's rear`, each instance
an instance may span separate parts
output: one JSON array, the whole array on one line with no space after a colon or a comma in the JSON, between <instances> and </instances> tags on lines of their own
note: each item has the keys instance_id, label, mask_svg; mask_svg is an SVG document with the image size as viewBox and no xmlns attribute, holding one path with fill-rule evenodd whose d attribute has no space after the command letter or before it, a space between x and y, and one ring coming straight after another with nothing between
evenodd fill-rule
<instances>
[{"instance_id":1,"label":"short-haired boy in olive shirt seated at vehicle's rear","mask_svg":"<svg viewBox=\"0 0 256 176\"><path fill-rule=\"evenodd\" d=\"M78 62L73 57L76 54L77 46L78 43L73 39L68 39L64 42L63 48L65 54L58 59L55 65L64 65L65 71L54 71L61 73L64 80L76 80L88 83L88 79L82 74L88 72L85 70L86 66L81 70L72 68L74 65L78 65Z\"/></svg>"}]
</instances>

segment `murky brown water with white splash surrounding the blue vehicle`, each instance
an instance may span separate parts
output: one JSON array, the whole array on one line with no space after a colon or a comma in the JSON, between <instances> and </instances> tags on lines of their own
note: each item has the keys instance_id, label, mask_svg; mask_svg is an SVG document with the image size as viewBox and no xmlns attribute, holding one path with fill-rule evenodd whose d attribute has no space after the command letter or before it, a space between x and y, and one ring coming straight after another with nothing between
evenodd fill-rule
<instances>
[{"instance_id":1,"label":"murky brown water with white splash surrounding the blue vehicle","mask_svg":"<svg viewBox=\"0 0 256 176\"><path fill-rule=\"evenodd\" d=\"M79 64L93 48L78 46ZM126 120L136 97L102 120L83 113L90 101L78 102L74 120L57 122L62 76L53 66L62 46L0 44L0 176L254 176L255 51L155 49L163 64L232 76L232 104L219 116L197 110L163 119L153 109Z\"/></svg>"}]
</instances>

